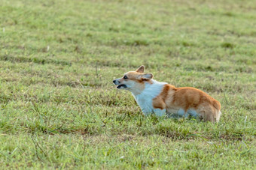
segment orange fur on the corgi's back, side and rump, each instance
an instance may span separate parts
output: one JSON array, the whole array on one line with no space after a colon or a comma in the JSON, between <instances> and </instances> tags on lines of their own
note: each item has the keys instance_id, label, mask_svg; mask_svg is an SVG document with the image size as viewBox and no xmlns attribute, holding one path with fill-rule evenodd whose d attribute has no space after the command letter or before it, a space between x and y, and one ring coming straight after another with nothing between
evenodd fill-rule
<instances>
[{"instance_id":1,"label":"orange fur on the corgi's back, side and rump","mask_svg":"<svg viewBox=\"0 0 256 170\"><path fill-rule=\"evenodd\" d=\"M221 103L197 88L175 88L173 85L164 85L163 91L154 98L155 109L166 109L172 112L177 109L194 109L204 121L218 121Z\"/></svg>"}]
</instances>

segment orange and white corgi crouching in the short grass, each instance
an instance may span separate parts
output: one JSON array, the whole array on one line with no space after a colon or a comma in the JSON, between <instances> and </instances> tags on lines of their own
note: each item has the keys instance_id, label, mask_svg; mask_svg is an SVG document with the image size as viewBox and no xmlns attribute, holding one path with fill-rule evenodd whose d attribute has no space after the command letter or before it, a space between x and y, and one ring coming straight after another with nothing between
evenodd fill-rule
<instances>
[{"instance_id":1,"label":"orange and white corgi crouching in the short grass","mask_svg":"<svg viewBox=\"0 0 256 170\"><path fill-rule=\"evenodd\" d=\"M175 88L166 82L157 82L152 73L144 73L142 65L114 79L118 89L131 91L144 115L172 115L187 118L189 115L204 121L218 122L221 103L197 88Z\"/></svg>"}]
</instances>

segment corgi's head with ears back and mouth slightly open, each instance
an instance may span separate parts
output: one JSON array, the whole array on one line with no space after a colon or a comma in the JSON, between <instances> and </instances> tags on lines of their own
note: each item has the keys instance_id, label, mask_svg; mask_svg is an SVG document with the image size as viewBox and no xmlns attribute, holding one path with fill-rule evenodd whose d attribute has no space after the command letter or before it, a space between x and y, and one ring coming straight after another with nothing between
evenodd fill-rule
<instances>
[{"instance_id":1,"label":"corgi's head with ears back and mouth slightly open","mask_svg":"<svg viewBox=\"0 0 256 170\"><path fill-rule=\"evenodd\" d=\"M144 66L142 65L136 71L130 71L123 75L119 79L114 79L114 85L117 85L118 89L125 89L132 92L139 92L145 88L145 82L151 82L153 74L144 73Z\"/></svg>"}]
</instances>

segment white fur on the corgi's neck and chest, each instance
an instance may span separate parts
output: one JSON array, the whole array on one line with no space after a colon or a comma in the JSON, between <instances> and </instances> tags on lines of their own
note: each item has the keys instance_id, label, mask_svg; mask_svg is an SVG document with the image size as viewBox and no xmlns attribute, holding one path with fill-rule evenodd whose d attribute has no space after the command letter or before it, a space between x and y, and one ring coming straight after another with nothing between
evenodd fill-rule
<instances>
[{"instance_id":1,"label":"white fur on the corgi's neck and chest","mask_svg":"<svg viewBox=\"0 0 256 170\"><path fill-rule=\"evenodd\" d=\"M166 110L154 109L152 101L161 93L163 85L166 85L167 83L157 82L154 79L152 79L152 82L152 84L146 82L142 93L137 95L133 94L133 97L135 98L139 107L142 109L144 115L149 115L152 112L156 113L156 115L163 115Z\"/></svg>"}]
</instances>

